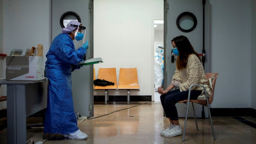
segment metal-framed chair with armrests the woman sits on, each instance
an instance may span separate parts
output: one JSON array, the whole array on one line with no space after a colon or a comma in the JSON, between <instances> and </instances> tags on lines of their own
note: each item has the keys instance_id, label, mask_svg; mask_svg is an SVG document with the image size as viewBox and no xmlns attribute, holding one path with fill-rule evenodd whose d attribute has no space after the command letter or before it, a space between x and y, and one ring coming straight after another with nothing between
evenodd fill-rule
<instances>
[{"instance_id":1,"label":"metal-framed chair with armrests the woman sits on","mask_svg":"<svg viewBox=\"0 0 256 144\"><path fill-rule=\"evenodd\" d=\"M203 85L197 85L197 84L193 84L189 87L189 92L188 92L188 99L187 100L183 100L183 101L179 101L179 103L186 103L187 104L187 113L186 113L186 118L185 118L185 124L184 124L184 131L183 131L183 138L182 141L185 140L185 132L186 132L186 125L187 125L187 118L188 118L188 107L189 107L189 102L192 103L193 106L193 111L194 111L194 116L195 116L195 122L196 122L196 129L198 130L198 126L197 126L197 121L196 121L196 113L195 113L195 109L194 109L194 103L197 103L199 105L205 106L208 108L209 111L209 118L211 121L211 125L212 125L212 134L213 134L213 139L216 140L215 137L215 133L214 133L214 129L213 129L213 124L212 124L212 116L211 116L211 112L210 112L210 107L209 105L213 102L213 95L214 95L214 88L215 88L215 83L216 83L216 79L217 76L219 75L218 73L206 73L205 76L207 77L207 79L211 78L214 75L214 81L212 83L212 92L210 95L210 98L207 98L207 94L206 94L206 89ZM205 98L207 100L190 100L190 92L191 92L191 87L192 86L202 86L204 88L204 92L205 92Z\"/></svg>"}]
</instances>

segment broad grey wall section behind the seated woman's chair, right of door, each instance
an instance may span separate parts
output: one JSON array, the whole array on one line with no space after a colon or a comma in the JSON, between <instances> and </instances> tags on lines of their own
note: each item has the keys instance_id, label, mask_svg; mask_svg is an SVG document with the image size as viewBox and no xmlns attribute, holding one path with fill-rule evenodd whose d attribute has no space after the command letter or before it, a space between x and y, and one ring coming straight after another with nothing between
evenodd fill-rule
<instances>
[{"instance_id":1,"label":"broad grey wall section behind the seated woman's chair, right of door","mask_svg":"<svg viewBox=\"0 0 256 144\"><path fill-rule=\"evenodd\" d=\"M210 0L209 7L210 71L219 73L211 107L251 107L251 1Z\"/></svg>"}]
</instances>

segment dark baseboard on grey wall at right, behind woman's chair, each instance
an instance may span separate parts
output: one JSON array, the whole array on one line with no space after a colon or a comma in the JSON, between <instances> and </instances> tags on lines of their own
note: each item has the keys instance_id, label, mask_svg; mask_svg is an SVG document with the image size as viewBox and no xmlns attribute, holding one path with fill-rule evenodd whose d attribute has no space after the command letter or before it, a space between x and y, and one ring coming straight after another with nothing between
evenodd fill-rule
<instances>
[{"instance_id":1,"label":"dark baseboard on grey wall at right, behind woman's chair","mask_svg":"<svg viewBox=\"0 0 256 144\"><path fill-rule=\"evenodd\" d=\"M253 108L210 108L212 116L250 116L256 118Z\"/></svg>"}]
</instances>

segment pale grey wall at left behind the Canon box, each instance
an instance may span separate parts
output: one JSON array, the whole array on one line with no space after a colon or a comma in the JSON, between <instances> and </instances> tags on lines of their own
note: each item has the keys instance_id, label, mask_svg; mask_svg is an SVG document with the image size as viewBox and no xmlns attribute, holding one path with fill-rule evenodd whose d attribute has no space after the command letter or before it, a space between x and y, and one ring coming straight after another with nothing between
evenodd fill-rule
<instances>
[{"instance_id":1,"label":"pale grey wall at left behind the Canon box","mask_svg":"<svg viewBox=\"0 0 256 144\"><path fill-rule=\"evenodd\" d=\"M45 56L51 44L51 1L3 0L1 10L3 10L1 19L3 20L3 48L1 47L3 53L10 54L12 49L31 49L32 46L37 47L39 43L44 45ZM44 61L46 61L45 57ZM0 74L5 77L5 59L2 62L4 65L0 65ZM6 86L4 94L6 95ZM0 109L2 105L0 103Z\"/></svg>"}]
</instances>

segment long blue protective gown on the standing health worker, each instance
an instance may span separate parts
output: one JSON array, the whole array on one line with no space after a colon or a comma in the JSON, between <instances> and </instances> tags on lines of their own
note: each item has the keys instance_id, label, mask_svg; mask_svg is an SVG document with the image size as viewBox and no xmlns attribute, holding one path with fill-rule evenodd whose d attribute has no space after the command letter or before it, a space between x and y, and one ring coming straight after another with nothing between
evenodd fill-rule
<instances>
[{"instance_id":1,"label":"long blue protective gown on the standing health worker","mask_svg":"<svg viewBox=\"0 0 256 144\"><path fill-rule=\"evenodd\" d=\"M68 34L53 39L46 54L45 76L49 79L44 133L73 133L78 130L72 98L71 71L79 69L86 50L75 50Z\"/></svg>"}]
</instances>

